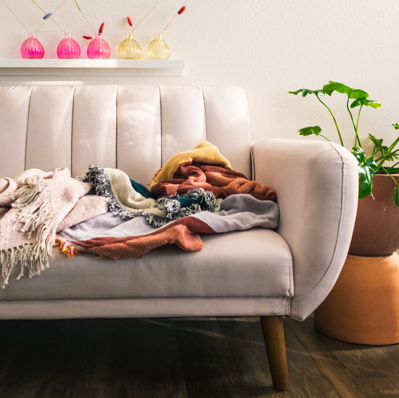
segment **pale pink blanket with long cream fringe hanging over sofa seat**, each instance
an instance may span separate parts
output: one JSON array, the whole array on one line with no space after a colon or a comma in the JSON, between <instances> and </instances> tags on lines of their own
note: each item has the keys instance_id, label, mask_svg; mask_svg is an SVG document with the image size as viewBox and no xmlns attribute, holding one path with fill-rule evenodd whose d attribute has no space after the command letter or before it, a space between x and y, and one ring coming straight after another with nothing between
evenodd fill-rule
<instances>
[{"instance_id":1,"label":"pale pink blanket with long cream fringe hanging over sofa seat","mask_svg":"<svg viewBox=\"0 0 399 398\"><path fill-rule=\"evenodd\" d=\"M31 169L14 179L0 179L0 285L4 289L15 264L18 279L48 267L55 233L106 213L107 201L86 195L92 184L71 178L67 168ZM84 197L83 197L84 196ZM79 200L81 198L81 200Z\"/></svg>"}]
</instances>

